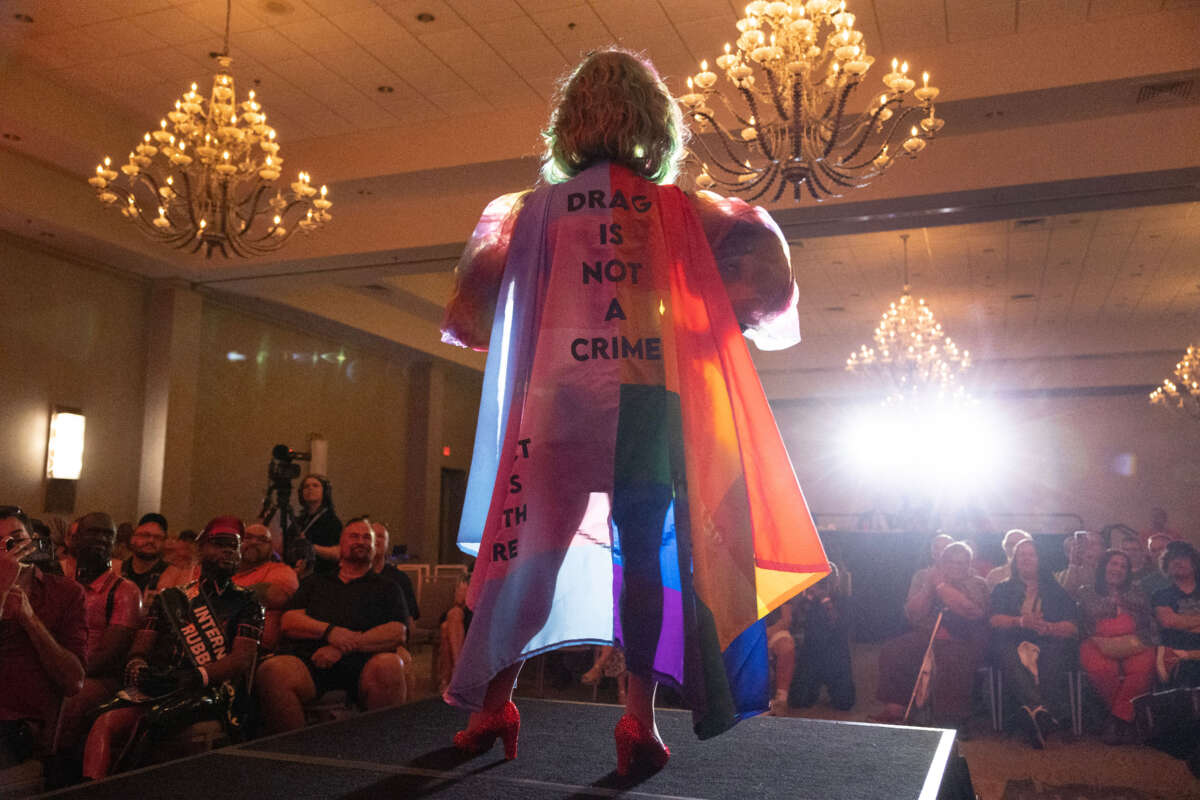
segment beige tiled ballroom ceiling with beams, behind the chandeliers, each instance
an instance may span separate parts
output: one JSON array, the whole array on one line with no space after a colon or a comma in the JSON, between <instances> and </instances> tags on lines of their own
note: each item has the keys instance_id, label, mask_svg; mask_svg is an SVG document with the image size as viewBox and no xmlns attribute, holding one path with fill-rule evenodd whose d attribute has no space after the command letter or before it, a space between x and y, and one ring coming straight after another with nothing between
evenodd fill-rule
<instances>
[{"instance_id":1,"label":"beige tiled ballroom ceiling with beams, behind the chandeliers","mask_svg":"<svg viewBox=\"0 0 1200 800\"><path fill-rule=\"evenodd\" d=\"M157 252L83 180L208 80L224 1L0 0L0 229L480 367L438 342L449 270L487 200L533 180L554 80L620 42L678 88L733 37L734 5L233 0L239 90L256 89L289 168L330 185L335 219L277 255L223 261ZM805 342L756 355L768 391L808 391L869 338L900 291L900 233L914 293L980 362L1162 355L1195 337L1200 2L847 5L881 64L934 74L947 127L869 188L772 206Z\"/></svg>"}]
</instances>

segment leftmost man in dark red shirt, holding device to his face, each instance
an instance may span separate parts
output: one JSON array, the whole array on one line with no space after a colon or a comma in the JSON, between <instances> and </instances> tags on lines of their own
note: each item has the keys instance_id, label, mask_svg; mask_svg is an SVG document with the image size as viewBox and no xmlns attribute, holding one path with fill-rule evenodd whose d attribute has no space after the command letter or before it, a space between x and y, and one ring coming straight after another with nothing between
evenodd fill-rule
<instances>
[{"instance_id":1,"label":"leftmost man in dark red shirt, holding device to his face","mask_svg":"<svg viewBox=\"0 0 1200 800\"><path fill-rule=\"evenodd\" d=\"M37 564L53 560L29 535L29 517L0 506L0 763L46 741L64 697L84 679L88 624L83 588ZM44 555L44 558L42 558Z\"/></svg>"}]
</instances>

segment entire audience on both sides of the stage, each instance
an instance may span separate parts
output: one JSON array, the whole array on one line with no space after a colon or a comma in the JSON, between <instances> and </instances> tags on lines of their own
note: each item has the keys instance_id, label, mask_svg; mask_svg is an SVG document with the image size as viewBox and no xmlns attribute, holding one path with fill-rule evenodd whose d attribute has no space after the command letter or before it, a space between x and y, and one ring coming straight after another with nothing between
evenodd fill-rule
<instances>
[{"instance_id":1,"label":"entire audience on both sides of the stage","mask_svg":"<svg viewBox=\"0 0 1200 800\"><path fill-rule=\"evenodd\" d=\"M343 525L322 476L306 477L300 497L282 535L223 516L172 536L158 513L119 529L97 512L34 536L36 521L0 506L0 769L38 757L48 786L62 786L146 763L197 722L236 741L302 727L306 705L329 692L362 709L404 703L420 612L408 575L388 561L386 527ZM1057 573L1022 530L1002 548L1006 563L990 569L967 542L934 537L931 566L904 603L911 630L880 651L874 720L906 721L928 694L932 721L966 734L988 666L1010 718L1043 747L1054 732L1069 735L1069 679L1082 673L1103 706L1102 739L1122 744L1136 740L1136 698L1200 686L1192 545L1165 529L1115 527L1108 541L1078 531ZM466 588L464 578L439 624L422 628L436 645L433 687L449 680L470 625ZM772 714L812 706L823 691L835 709L854 706L850 596L834 565L763 620ZM619 648L598 648L583 682L605 676L623 693Z\"/></svg>"}]
</instances>

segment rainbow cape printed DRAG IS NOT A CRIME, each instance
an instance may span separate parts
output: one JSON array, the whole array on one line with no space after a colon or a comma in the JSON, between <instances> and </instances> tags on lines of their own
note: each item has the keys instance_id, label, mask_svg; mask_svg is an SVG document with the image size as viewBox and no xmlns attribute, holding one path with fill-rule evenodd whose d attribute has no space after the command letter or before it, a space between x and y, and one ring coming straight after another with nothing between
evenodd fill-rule
<instances>
[{"instance_id":1,"label":"rainbow cape printed DRAG IS NOT A CRIME","mask_svg":"<svg viewBox=\"0 0 1200 800\"><path fill-rule=\"evenodd\" d=\"M478 709L509 664L616 642L701 738L767 709L761 620L829 566L678 188L602 163L524 199L458 545L474 619L448 702Z\"/></svg>"}]
</instances>

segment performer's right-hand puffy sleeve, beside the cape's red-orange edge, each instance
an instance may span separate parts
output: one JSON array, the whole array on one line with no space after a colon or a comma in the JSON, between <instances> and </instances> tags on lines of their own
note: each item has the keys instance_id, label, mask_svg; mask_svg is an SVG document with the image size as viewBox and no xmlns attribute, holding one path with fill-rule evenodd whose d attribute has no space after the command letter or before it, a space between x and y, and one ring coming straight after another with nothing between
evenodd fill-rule
<instances>
[{"instance_id":1,"label":"performer's right-hand puffy sleeve, beside the cape's red-orange edge","mask_svg":"<svg viewBox=\"0 0 1200 800\"><path fill-rule=\"evenodd\" d=\"M787 242L766 209L713 192L689 196L746 338L782 350L800 341Z\"/></svg>"}]
</instances>

